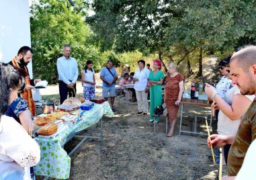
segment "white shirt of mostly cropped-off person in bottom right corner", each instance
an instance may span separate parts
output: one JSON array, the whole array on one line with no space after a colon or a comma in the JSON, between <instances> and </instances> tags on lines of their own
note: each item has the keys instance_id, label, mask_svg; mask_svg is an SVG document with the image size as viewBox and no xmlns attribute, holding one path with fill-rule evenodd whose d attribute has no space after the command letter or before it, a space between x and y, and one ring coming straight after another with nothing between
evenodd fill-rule
<instances>
[{"instance_id":1,"label":"white shirt of mostly cropped-off person in bottom right corner","mask_svg":"<svg viewBox=\"0 0 256 180\"><path fill-rule=\"evenodd\" d=\"M249 146L246 154L245 159L243 161L243 165L241 169L239 170L239 173L237 173L237 177L235 177L235 180L249 180L249 179L255 179L256 177L256 171L255 171L255 162L256 162L256 140L253 140L251 145Z\"/></svg>"}]
</instances>

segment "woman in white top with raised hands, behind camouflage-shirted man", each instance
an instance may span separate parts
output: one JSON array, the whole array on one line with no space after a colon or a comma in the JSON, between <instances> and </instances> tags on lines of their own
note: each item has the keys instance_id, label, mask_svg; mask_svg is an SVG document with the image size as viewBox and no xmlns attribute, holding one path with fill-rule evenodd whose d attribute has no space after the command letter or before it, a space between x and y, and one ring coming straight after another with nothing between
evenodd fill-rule
<instances>
[{"instance_id":1,"label":"woman in white top with raised hands, behind camouflage-shirted man","mask_svg":"<svg viewBox=\"0 0 256 180\"><path fill-rule=\"evenodd\" d=\"M226 77L231 79L232 77L229 67L226 68L226 71L228 73ZM237 85L233 85L232 88L228 89L224 95L224 99L222 99L214 87L207 83L205 91L208 96L213 97L216 101L216 105L220 109L218 114L218 134L236 134L241 118L255 98L255 95L241 95ZM224 158L226 163L228 160L229 148L230 144L224 146Z\"/></svg>"}]
</instances>

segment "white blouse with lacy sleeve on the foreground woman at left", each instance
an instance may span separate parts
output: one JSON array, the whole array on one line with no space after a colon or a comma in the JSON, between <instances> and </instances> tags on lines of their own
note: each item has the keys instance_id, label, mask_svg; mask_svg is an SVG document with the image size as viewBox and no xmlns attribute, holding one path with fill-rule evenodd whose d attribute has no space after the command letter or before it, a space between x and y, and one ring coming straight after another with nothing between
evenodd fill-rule
<instances>
[{"instance_id":1,"label":"white blouse with lacy sleeve on the foreground woman at left","mask_svg":"<svg viewBox=\"0 0 256 180\"><path fill-rule=\"evenodd\" d=\"M13 118L0 122L0 179L30 179L30 167L40 161L40 147Z\"/></svg>"}]
</instances>

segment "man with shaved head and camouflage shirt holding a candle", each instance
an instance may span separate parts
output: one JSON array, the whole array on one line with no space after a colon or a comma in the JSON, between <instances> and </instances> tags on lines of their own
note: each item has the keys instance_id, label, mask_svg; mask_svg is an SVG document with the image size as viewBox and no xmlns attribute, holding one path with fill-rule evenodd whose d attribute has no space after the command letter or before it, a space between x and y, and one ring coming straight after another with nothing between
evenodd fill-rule
<instances>
[{"instance_id":1,"label":"man with shaved head and camouflage shirt holding a candle","mask_svg":"<svg viewBox=\"0 0 256 180\"><path fill-rule=\"evenodd\" d=\"M256 95L256 46L248 46L233 54L230 60L230 73L232 83L239 87L242 95ZM218 96L218 93L213 95L214 98ZM229 177L223 179L234 179L241 169L250 144L256 139L256 100L254 99L242 117L237 134L212 134L210 139L211 141L207 140L209 147L210 143L217 146L232 144L228 152Z\"/></svg>"}]
</instances>

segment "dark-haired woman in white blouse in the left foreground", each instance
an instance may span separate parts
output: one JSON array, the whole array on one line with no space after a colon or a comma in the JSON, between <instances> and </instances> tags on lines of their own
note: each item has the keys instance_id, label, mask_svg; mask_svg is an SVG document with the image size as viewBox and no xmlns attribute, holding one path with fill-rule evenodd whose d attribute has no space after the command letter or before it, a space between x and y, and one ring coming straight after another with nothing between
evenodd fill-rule
<instances>
[{"instance_id":1,"label":"dark-haired woman in white blouse in the left foreground","mask_svg":"<svg viewBox=\"0 0 256 180\"><path fill-rule=\"evenodd\" d=\"M40 161L40 147L24 128L6 116L13 93L23 77L9 64L0 63L0 179L30 179L30 167Z\"/></svg>"}]
</instances>

